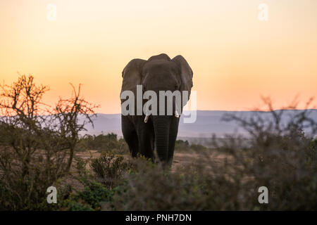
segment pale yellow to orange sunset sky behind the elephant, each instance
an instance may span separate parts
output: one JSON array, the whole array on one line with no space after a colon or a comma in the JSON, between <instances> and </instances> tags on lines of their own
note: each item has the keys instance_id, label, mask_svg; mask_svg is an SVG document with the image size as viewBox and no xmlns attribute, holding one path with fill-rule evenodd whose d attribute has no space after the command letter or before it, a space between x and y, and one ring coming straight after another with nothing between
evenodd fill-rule
<instances>
[{"instance_id":1,"label":"pale yellow to orange sunset sky behind the elephant","mask_svg":"<svg viewBox=\"0 0 317 225\"><path fill-rule=\"evenodd\" d=\"M32 74L49 103L82 83L99 113L120 113L123 68L159 53L187 59L199 110L251 110L261 94L276 107L306 101L317 93L317 1L0 1L0 80Z\"/></svg>"}]
</instances>

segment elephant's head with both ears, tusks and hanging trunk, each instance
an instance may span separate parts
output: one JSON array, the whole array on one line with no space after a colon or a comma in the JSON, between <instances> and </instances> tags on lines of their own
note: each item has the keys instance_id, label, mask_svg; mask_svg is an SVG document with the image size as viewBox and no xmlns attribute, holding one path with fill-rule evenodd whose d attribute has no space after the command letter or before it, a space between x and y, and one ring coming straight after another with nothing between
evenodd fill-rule
<instances>
[{"instance_id":1,"label":"elephant's head with both ears, tusks and hanging trunk","mask_svg":"<svg viewBox=\"0 0 317 225\"><path fill-rule=\"evenodd\" d=\"M158 101L156 114L140 115L142 121L153 123L155 134L156 152L161 161L173 158L175 139L178 133L179 115L182 107L187 103L192 89L192 69L182 56L170 59L162 53L152 56L148 60L133 59L123 69L122 91L129 90L137 94L137 85L142 85L142 91L154 91L159 96L159 91L188 91L187 99L182 99L181 105L176 105L173 100L173 115L161 115ZM143 102L143 104L145 101ZM137 105L137 104L135 104ZM143 107L143 105L142 105ZM172 151L172 153L170 153Z\"/></svg>"}]
</instances>

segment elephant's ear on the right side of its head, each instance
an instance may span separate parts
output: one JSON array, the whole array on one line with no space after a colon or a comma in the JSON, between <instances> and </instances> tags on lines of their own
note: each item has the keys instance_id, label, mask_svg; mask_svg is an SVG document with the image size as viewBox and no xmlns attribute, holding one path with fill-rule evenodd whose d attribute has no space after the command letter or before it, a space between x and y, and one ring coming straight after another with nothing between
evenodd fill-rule
<instances>
[{"instance_id":1,"label":"elephant's ear on the right side of its head","mask_svg":"<svg viewBox=\"0 0 317 225\"><path fill-rule=\"evenodd\" d=\"M180 91L188 91L188 98L190 96L190 91L192 89L192 68L182 56L175 56L172 61L174 61L178 68L180 69L180 78L182 84L180 84ZM188 99L185 101L187 103Z\"/></svg>"}]
</instances>

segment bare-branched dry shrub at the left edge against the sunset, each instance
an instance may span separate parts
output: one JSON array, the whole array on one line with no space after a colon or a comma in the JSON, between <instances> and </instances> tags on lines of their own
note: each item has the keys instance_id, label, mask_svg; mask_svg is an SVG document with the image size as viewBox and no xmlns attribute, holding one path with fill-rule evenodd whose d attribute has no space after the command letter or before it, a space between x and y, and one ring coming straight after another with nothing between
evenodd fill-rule
<instances>
[{"instance_id":1,"label":"bare-branched dry shrub at the left edge against the sunset","mask_svg":"<svg viewBox=\"0 0 317 225\"><path fill-rule=\"evenodd\" d=\"M0 86L0 210L46 210L46 189L70 172L80 131L94 105L73 87L54 108L42 103L46 86L22 75ZM86 120L80 124L78 117Z\"/></svg>"}]
</instances>

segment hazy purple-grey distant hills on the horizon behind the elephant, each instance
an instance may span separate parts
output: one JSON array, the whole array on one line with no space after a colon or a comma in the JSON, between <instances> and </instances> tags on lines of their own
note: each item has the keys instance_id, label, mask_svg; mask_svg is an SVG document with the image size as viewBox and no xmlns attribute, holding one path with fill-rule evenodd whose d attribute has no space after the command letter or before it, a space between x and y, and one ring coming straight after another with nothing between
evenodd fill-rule
<instances>
[{"instance_id":1,"label":"hazy purple-grey distant hills on the horizon behind the elephant","mask_svg":"<svg viewBox=\"0 0 317 225\"><path fill-rule=\"evenodd\" d=\"M289 120L289 115L301 110L287 110L285 116L283 116L283 122ZM317 110L310 110L310 117L317 122ZM178 130L178 138L204 138L210 137L212 134L216 134L221 137L224 134L239 133L243 134L244 131L240 127L237 127L235 122L225 122L221 120L225 113L235 113L240 117L250 117L252 111L203 111L197 110L197 120L192 124L185 124L183 122L183 116L180 120L180 127ZM261 112L263 119L268 117L268 112ZM86 127L86 134L107 134L113 132L118 136L122 136L121 132L121 115L120 114L98 114L94 118L94 128L90 125Z\"/></svg>"}]
</instances>

